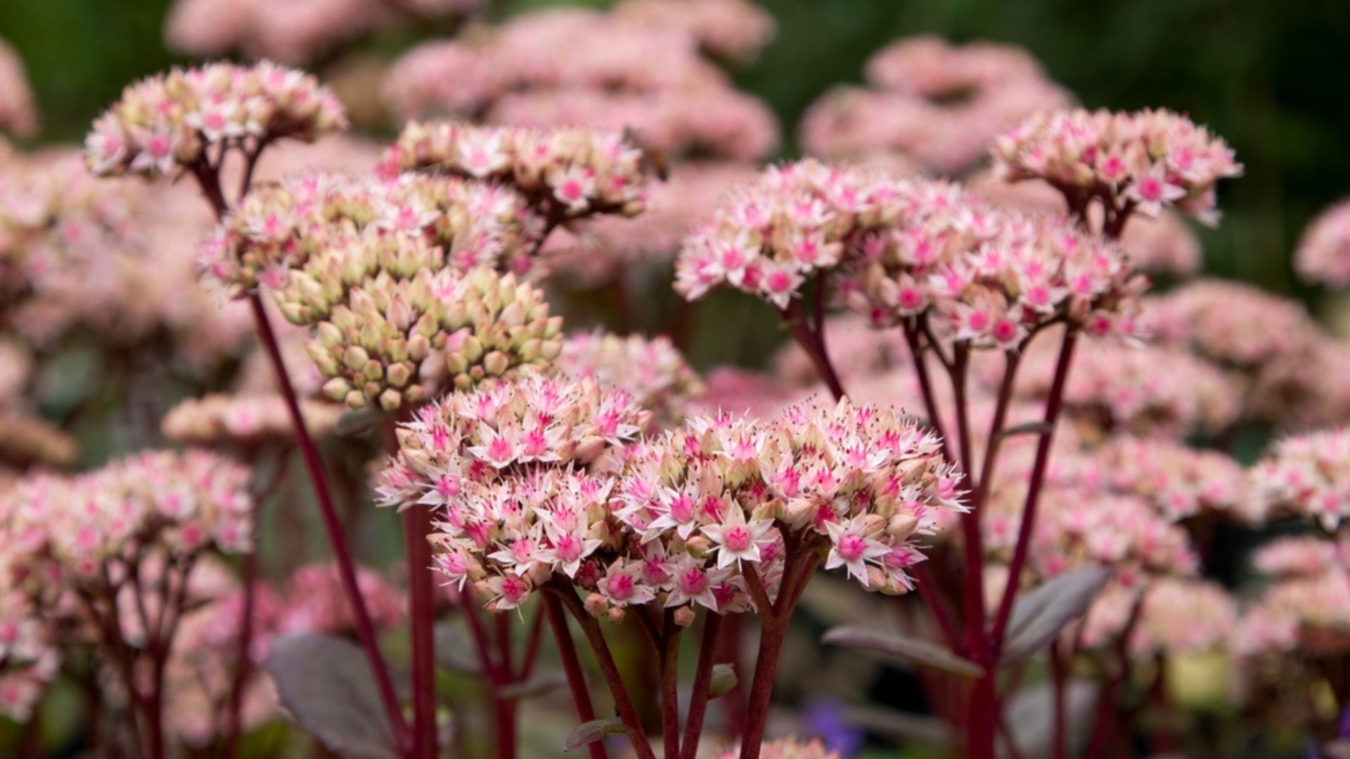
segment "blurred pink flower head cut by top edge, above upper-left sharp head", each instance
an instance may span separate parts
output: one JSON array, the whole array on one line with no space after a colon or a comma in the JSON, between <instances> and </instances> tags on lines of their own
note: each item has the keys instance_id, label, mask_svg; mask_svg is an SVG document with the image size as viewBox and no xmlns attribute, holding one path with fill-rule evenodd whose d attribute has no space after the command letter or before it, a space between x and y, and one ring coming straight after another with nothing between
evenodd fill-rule
<instances>
[{"instance_id":1,"label":"blurred pink flower head cut by top edge, above upper-left sharp head","mask_svg":"<svg viewBox=\"0 0 1350 759\"><path fill-rule=\"evenodd\" d=\"M387 27L462 16L487 0L177 0L165 22L169 47L192 55L231 51L304 63Z\"/></svg>"}]
</instances>

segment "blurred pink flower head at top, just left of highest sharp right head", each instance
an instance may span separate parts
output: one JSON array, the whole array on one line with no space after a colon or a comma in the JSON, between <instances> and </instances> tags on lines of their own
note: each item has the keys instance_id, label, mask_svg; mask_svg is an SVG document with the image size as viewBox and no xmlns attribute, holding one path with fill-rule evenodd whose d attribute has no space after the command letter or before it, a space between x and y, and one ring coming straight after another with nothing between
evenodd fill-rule
<instances>
[{"instance_id":1,"label":"blurred pink flower head at top, just left of highest sharp right head","mask_svg":"<svg viewBox=\"0 0 1350 759\"><path fill-rule=\"evenodd\" d=\"M899 39L872 55L867 78L872 88L841 86L811 105L802 122L807 151L829 158L900 153L954 174L1008 127L1071 103L1030 54L990 42Z\"/></svg>"}]
</instances>

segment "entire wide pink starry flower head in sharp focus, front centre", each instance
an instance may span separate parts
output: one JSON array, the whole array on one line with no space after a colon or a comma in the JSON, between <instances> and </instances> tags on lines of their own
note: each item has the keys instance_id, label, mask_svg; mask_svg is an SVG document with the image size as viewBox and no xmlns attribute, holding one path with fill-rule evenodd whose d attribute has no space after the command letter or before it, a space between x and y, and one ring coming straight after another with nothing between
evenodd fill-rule
<instances>
[{"instance_id":1,"label":"entire wide pink starry flower head in sharp focus, front centre","mask_svg":"<svg viewBox=\"0 0 1350 759\"><path fill-rule=\"evenodd\" d=\"M436 508L437 567L490 609L566 582L613 620L649 601L753 608L776 592L784 536L830 546L826 566L867 587L905 592L922 558L911 538L959 508L936 439L890 412L807 404L634 442L647 419L587 380L456 393L400 431L382 501Z\"/></svg>"}]
</instances>

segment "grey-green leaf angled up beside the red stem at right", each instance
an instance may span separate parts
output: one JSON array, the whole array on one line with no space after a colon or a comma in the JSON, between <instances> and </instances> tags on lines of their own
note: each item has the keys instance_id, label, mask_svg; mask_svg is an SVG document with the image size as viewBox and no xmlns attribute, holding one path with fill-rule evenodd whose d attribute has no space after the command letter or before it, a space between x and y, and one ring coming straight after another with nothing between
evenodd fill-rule
<instances>
[{"instance_id":1,"label":"grey-green leaf angled up beside the red stem at right","mask_svg":"<svg viewBox=\"0 0 1350 759\"><path fill-rule=\"evenodd\" d=\"M1045 582L1013 604L1000 664L1015 664L1046 648L1064 625L1087 612L1111 577L1106 567L1084 567Z\"/></svg>"}]
</instances>

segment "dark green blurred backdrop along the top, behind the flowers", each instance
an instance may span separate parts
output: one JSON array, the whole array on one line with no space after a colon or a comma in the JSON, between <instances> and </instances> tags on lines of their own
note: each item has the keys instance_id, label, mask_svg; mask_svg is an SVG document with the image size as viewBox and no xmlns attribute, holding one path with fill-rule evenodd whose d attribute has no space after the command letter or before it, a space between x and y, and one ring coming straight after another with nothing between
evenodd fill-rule
<instances>
[{"instance_id":1,"label":"dark green blurred backdrop along the top, behind the flowers","mask_svg":"<svg viewBox=\"0 0 1350 759\"><path fill-rule=\"evenodd\" d=\"M505 1L502 16L552 4ZM603 4L603 3L590 3ZM1247 173L1220 192L1203 232L1208 271L1308 296L1289 276L1307 220L1350 185L1350 3L1343 0L764 0L779 35L738 73L787 126L834 82L857 81L886 42L937 32L1030 49L1089 107L1191 113L1237 149ZM127 81L173 62L167 0L0 0L0 36L27 61L43 140L78 139ZM406 35L379 42L397 51Z\"/></svg>"}]
</instances>

